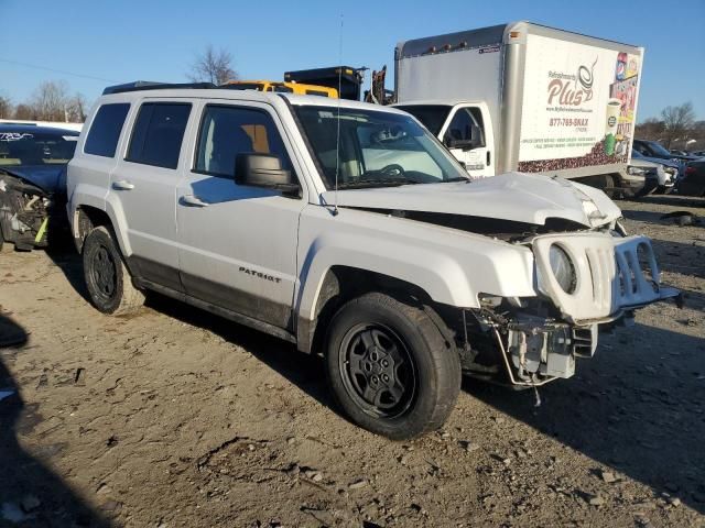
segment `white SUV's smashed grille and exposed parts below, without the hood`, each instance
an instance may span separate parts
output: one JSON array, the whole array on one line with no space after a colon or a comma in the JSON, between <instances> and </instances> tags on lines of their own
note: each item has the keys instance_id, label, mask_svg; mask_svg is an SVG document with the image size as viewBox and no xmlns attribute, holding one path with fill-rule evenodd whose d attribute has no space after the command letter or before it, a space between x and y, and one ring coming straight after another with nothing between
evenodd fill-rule
<instances>
[{"instance_id":1,"label":"white SUV's smashed grille and exposed parts below, without the hood","mask_svg":"<svg viewBox=\"0 0 705 528\"><path fill-rule=\"evenodd\" d=\"M464 310L465 371L519 387L571 377L576 359L594 355L599 324L629 326L637 308L677 298L661 284L651 241L615 228L523 241L539 295L481 295L480 309Z\"/></svg>"}]
</instances>

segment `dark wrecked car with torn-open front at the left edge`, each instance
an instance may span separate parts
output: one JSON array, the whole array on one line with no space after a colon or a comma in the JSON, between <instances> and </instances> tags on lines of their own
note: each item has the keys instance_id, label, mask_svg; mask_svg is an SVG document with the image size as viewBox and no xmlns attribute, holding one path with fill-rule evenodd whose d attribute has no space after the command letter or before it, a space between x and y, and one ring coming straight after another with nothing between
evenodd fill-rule
<instances>
[{"instance_id":1,"label":"dark wrecked car with torn-open front at the left edge","mask_svg":"<svg viewBox=\"0 0 705 528\"><path fill-rule=\"evenodd\" d=\"M0 124L0 246L48 244L66 228L66 164L78 132L29 124Z\"/></svg>"}]
</instances>

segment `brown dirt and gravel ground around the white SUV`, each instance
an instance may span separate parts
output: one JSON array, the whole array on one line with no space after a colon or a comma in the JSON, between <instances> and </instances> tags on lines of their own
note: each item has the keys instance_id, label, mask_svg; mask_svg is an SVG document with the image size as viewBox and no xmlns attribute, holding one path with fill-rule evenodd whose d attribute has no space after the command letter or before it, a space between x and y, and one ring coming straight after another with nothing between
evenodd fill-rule
<instances>
[{"instance_id":1,"label":"brown dirt and gravel ground around the white SUV","mask_svg":"<svg viewBox=\"0 0 705 528\"><path fill-rule=\"evenodd\" d=\"M620 205L685 308L600 334L540 407L466 381L403 443L340 417L290 344L159 296L102 316L70 249L6 246L0 526L705 526L705 219L660 219L705 201Z\"/></svg>"}]
</instances>

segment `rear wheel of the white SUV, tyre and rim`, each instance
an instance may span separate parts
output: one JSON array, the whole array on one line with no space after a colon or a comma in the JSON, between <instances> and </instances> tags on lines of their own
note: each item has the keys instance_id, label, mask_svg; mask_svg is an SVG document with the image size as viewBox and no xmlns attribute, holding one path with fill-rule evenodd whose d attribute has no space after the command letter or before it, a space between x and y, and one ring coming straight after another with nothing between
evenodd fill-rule
<instances>
[{"instance_id":1,"label":"rear wheel of the white SUV, tyre and rim","mask_svg":"<svg viewBox=\"0 0 705 528\"><path fill-rule=\"evenodd\" d=\"M132 285L115 237L104 226L86 237L84 278L90 301L104 314L130 314L144 302L142 292Z\"/></svg>"}]
</instances>

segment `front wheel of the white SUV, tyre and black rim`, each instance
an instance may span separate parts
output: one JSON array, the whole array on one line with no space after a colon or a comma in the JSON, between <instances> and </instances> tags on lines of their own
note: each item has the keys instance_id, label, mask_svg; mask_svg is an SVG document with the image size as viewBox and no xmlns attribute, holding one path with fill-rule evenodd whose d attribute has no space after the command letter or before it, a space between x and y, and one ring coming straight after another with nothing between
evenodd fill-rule
<instances>
[{"instance_id":1,"label":"front wheel of the white SUV, tyre and black rim","mask_svg":"<svg viewBox=\"0 0 705 528\"><path fill-rule=\"evenodd\" d=\"M378 293L333 318L326 372L350 419L393 440L441 427L460 389L457 351L429 315Z\"/></svg>"}]
</instances>

